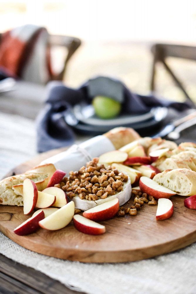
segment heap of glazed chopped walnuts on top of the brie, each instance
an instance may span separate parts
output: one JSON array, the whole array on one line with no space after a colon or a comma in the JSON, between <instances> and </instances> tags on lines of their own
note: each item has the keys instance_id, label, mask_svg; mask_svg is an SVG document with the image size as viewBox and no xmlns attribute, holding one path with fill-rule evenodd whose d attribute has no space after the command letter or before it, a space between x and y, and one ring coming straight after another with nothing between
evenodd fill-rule
<instances>
[{"instance_id":1,"label":"heap of glazed chopped walnuts on top of the brie","mask_svg":"<svg viewBox=\"0 0 196 294\"><path fill-rule=\"evenodd\" d=\"M78 195L80 199L89 201L105 199L122 191L128 176L114 167L98 165L98 161L99 158L93 158L79 171L70 171L69 178L65 177L63 182L55 186L66 192L71 199Z\"/></svg>"}]
</instances>

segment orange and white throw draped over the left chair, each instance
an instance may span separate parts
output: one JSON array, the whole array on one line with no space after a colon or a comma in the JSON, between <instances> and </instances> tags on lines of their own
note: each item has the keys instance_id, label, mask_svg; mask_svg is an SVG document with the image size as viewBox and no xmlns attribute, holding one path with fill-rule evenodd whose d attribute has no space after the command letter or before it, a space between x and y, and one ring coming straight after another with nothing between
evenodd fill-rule
<instances>
[{"instance_id":1,"label":"orange and white throw draped over the left chair","mask_svg":"<svg viewBox=\"0 0 196 294\"><path fill-rule=\"evenodd\" d=\"M0 41L0 72L34 83L46 83L52 76L48 32L27 24L7 31ZM9 75L8 75L9 73Z\"/></svg>"}]
</instances>

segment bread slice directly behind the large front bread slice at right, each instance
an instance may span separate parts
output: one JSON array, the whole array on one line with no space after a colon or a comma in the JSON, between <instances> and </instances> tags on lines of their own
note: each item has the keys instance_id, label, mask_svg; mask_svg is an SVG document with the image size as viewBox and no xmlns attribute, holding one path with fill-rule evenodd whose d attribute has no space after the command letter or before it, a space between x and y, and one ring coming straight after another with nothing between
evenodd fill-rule
<instances>
[{"instance_id":1,"label":"bread slice directly behind the large front bread slice at right","mask_svg":"<svg viewBox=\"0 0 196 294\"><path fill-rule=\"evenodd\" d=\"M191 169L187 164L187 161L183 161L175 158L166 158L159 165L156 166L160 171L176 168L187 168Z\"/></svg>"}]
</instances>

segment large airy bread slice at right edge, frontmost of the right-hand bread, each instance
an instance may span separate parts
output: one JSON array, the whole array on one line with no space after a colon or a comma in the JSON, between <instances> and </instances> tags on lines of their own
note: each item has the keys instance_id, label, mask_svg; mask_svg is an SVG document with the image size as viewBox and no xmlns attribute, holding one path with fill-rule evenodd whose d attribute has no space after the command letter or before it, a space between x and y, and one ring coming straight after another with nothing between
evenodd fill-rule
<instances>
[{"instance_id":1,"label":"large airy bread slice at right edge, frontmost of the right-hand bread","mask_svg":"<svg viewBox=\"0 0 196 294\"><path fill-rule=\"evenodd\" d=\"M192 196L196 194L196 172L187 168L163 171L156 174L153 181L178 195Z\"/></svg>"}]
</instances>

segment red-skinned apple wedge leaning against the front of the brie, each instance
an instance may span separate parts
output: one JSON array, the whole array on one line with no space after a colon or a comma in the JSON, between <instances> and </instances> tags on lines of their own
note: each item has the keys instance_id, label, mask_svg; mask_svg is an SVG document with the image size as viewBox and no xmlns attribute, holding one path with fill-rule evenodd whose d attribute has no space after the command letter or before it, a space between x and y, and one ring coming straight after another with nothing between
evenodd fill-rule
<instances>
[{"instance_id":1,"label":"red-skinned apple wedge leaning against the front of the brie","mask_svg":"<svg viewBox=\"0 0 196 294\"><path fill-rule=\"evenodd\" d=\"M85 218L94 221L104 221L113 218L119 211L119 200L114 198L111 201L105 202L83 212Z\"/></svg>"}]
</instances>

